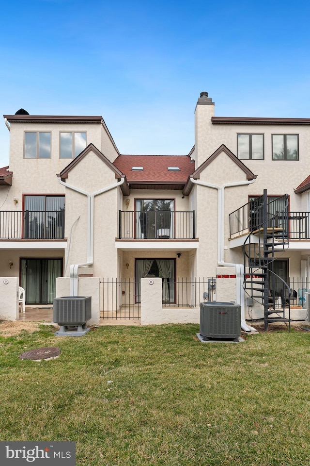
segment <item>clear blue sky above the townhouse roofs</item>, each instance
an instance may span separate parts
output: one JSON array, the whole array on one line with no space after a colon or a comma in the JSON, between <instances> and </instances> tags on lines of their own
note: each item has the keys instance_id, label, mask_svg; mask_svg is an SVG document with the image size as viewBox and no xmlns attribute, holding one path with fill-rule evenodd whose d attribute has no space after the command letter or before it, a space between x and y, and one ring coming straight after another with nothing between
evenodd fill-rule
<instances>
[{"instance_id":1,"label":"clear blue sky above the townhouse roofs","mask_svg":"<svg viewBox=\"0 0 310 466\"><path fill-rule=\"evenodd\" d=\"M186 154L194 109L310 117L310 2L29 0L0 15L2 119L102 115L121 153Z\"/></svg>"}]
</instances>

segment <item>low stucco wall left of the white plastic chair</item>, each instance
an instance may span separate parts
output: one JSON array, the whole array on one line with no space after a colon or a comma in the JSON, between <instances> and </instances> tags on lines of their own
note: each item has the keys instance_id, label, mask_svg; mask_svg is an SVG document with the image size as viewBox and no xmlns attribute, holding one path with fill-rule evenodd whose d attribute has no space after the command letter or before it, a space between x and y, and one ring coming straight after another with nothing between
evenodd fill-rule
<instances>
[{"instance_id":1,"label":"low stucco wall left of the white plastic chair","mask_svg":"<svg viewBox=\"0 0 310 466\"><path fill-rule=\"evenodd\" d=\"M0 320L18 320L17 277L0 277Z\"/></svg>"}]
</instances>

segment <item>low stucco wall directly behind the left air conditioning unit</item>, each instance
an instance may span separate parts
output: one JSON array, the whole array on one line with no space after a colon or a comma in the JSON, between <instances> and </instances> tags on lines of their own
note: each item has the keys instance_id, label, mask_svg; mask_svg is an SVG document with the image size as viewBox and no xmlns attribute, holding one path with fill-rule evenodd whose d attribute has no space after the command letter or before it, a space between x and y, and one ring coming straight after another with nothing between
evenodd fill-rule
<instances>
[{"instance_id":1,"label":"low stucco wall directly behind the left air conditioning unit","mask_svg":"<svg viewBox=\"0 0 310 466\"><path fill-rule=\"evenodd\" d=\"M70 279L59 277L56 279L56 297L70 296ZM92 318L87 325L99 325L100 319L100 279L95 277L79 278L78 296L92 297Z\"/></svg>"}]
</instances>

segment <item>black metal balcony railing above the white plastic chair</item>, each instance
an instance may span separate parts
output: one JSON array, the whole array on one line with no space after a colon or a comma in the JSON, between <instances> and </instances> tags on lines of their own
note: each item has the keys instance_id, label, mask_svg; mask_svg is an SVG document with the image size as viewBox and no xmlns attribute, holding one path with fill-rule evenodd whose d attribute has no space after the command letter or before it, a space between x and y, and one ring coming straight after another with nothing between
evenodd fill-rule
<instances>
[{"instance_id":1,"label":"black metal balcony railing above the white plastic chair","mask_svg":"<svg viewBox=\"0 0 310 466\"><path fill-rule=\"evenodd\" d=\"M62 239L62 211L0 211L0 239Z\"/></svg>"}]
</instances>

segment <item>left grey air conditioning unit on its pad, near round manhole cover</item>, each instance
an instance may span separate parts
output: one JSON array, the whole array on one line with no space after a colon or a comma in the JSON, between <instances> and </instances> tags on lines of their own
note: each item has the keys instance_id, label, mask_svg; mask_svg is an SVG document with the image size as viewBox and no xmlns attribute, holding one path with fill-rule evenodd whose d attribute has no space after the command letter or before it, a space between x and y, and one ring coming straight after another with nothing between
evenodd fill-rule
<instances>
[{"instance_id":1,"label":"left grey air conditioning unit on its pad, near round manhole cover","mask_svg":"<svg viewBox=\"0 0 310 466\"><path fill-rule=\"evenodd\" d=\"M53 301L53 321L60 325L60 330L55 333L57 336L84 335L90 330L86 322L91 317L91 296L63 296Z\"/></svg>"}]
</instances>

